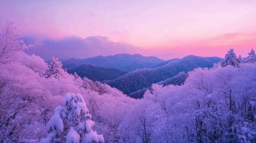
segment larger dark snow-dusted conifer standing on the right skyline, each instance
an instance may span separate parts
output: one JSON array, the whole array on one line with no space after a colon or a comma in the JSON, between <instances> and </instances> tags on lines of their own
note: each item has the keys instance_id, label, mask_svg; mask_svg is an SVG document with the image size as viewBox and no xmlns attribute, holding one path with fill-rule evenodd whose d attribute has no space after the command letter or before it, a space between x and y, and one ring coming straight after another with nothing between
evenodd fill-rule
<instances>
[{"instance_id":1,"label":"larger dark snow-dusted conifer standing on the right skyline","mask_svg":"<svg viewBox=\"0 0 256 143\"><path fill-rule=\"evenodd\" d=\"M228 65L231 65L233 67L239 66L239 59L236 56L234 49L230 49L229 52L225 55L225 59L221 61L222 67L227 67Z\"/></svg>"}]
</instances>

